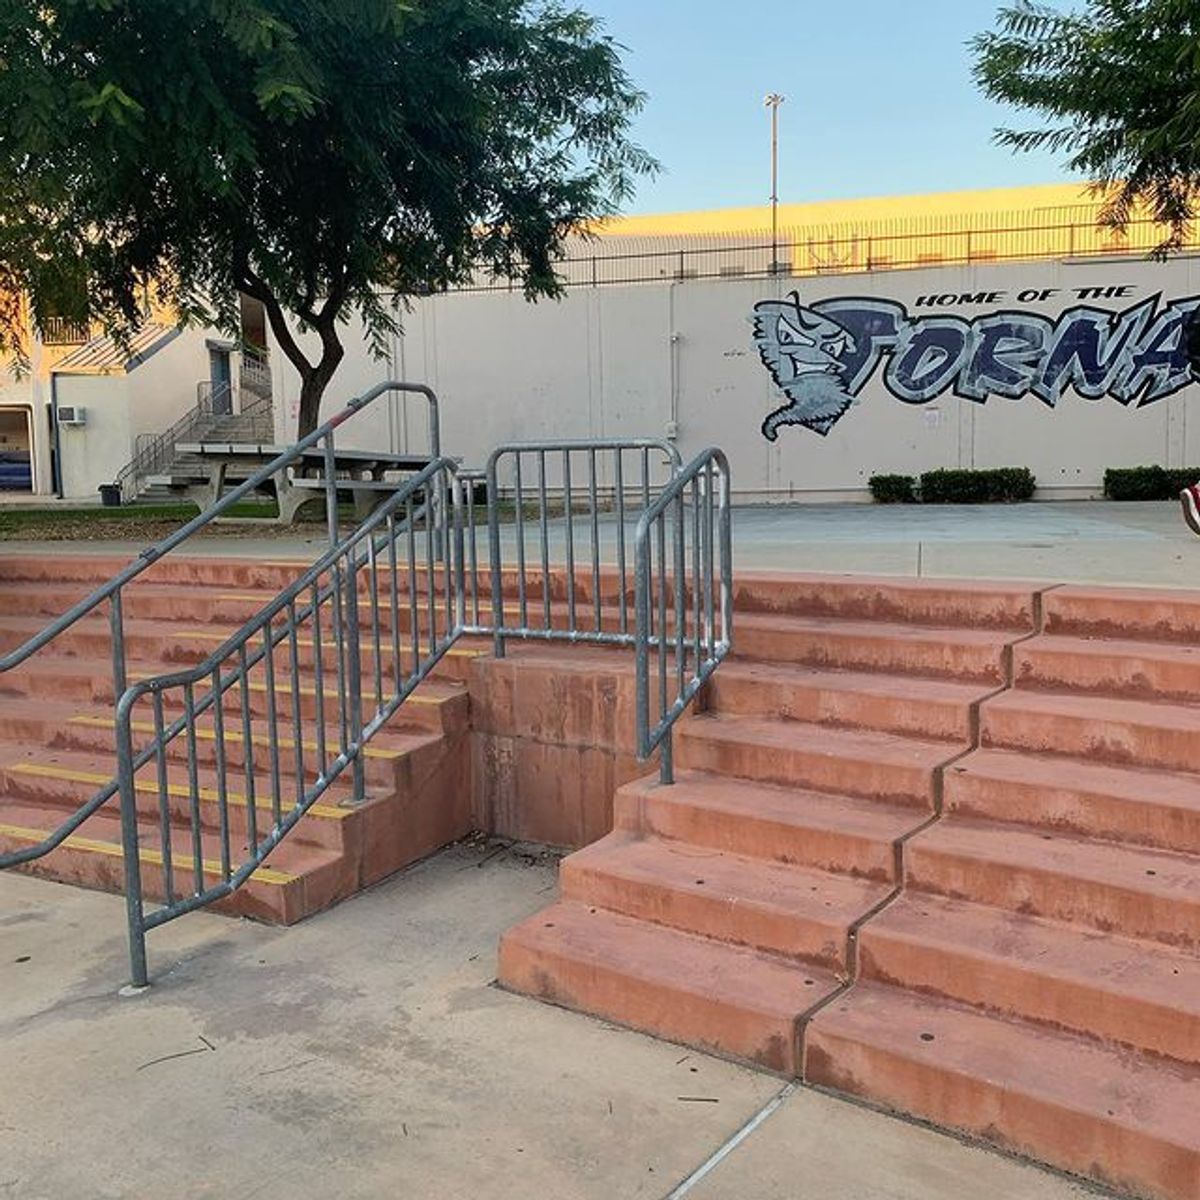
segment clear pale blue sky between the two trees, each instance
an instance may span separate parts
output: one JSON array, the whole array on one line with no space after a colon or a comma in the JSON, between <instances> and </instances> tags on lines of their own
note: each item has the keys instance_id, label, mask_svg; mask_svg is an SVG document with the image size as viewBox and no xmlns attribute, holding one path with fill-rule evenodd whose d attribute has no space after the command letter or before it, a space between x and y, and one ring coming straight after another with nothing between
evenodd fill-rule
<instances>
[{"instance_id":1,"label":"clear pale blue sky between the two trees","mask_svg":"<svg viewBox=\"0 0 1200 1200\"><path fill-rule=\"evenodd\" d=\"M1037 124L984 100L967 41L998 0L580 0L628 47L649 98L635 138L662 164L629 212L764 204L780 109L780 200L1015 187L1070 179L992 143Z\"/></svg>"}]
</instances>

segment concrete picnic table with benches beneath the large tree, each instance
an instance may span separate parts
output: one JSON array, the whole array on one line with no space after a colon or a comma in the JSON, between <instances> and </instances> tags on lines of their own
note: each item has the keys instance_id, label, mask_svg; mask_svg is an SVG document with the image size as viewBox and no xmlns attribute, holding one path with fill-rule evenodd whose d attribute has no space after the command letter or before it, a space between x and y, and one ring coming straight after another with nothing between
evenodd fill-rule
<instances>
[{"instance_id":1,"label":"concrete picnic table with benches beneath the large tree","mask_svg":"<svg viewBox=\"0 0 1200 1200\"><path fill-rule=\"evenodd\" d=\"M250 479L290 448L264 443L187 442L179 443L175 449L185 456L185 463L176 464L169 475L154 476L149 482L186 496L203 510L216 504L228 485ZM338 499L353 500L355 514L365 517L403 482L403 479L386 476L415 474L431 461L427 455L335 450L334 485ZM299 463L275 473L271 487L281 524L294 523L301 505L325 493L325 451L312 448L302 452Z\"/></svg>"}]
</instances>

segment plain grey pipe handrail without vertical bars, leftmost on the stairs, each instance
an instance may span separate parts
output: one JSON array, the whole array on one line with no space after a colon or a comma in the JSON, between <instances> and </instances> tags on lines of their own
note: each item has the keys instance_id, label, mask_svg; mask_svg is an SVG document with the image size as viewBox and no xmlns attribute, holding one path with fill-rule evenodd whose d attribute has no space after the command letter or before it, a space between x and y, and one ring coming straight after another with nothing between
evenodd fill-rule
<instances>
[{"instance_id":1,"label":"plain grey pipe handrail without vertical bars, leftmost on the stairs","mask_svg":"<svg viewBox=\"0 0 1200 1200\"><path fill-rule=\"evenodd\" d=\"M270 479L272 479L278 472L287 470L289 467L295 466L301 462L304 455L307 450L317 446L319 443L324 442L325 451L325 506L326 506L326 524L329 528L330 542L337 542L337 481L335 479L334 462L335 462L335 448L334 448L334 434L340 426L348 421L356 413L361 412L368 404L373 403L380 396L389 392L416 392L424 395L430 402L431 419L437 426L438 424L438 403L437 397L425 384L410 384L398 380L389 380L386 383L380 383L372 388L370 391L365 392L355 400L352 400L340 413L332 416L330 420L325 421L324 425L318 426L312 433L301 438L295 445L284 450L282 454L272 458L266 466L259 468L248 479L244 480L232 491L227 492L221 497L216 504L205 511L200 512L198 516L193 517L186 524L181 526L173 534L164 538L155 546L150 546L127 566L119 571L112 580L97 588L95 592L90 593L83 600L72 605L61 617L56 620L50 622L40 634L36 634L29 641L24 642L22 646L17 647L14 650L10 650L7 654L0 656L0 674L7 671L12 671L19 667L22 664L28 661L34 654L41 650L43 647L48 646L54 638L64 634L66 630L71 629L77 622L82 620L84 617L89 617L95 613L103 605L108 605L109 612L109 628L112 630L113 640L113 696L119 698L126 689L126 658L125 658L125 618L122 607L122 592L126 584L131 583L139 575L146 571L155 563L160 562L163 557L169 554L178 546L188 541L193 534L199 533L202 529L206 528L218 517L223 516L232 509L235 504L240 503L246 496L257 491ZM436 438L433 439L436 440ZM32 862L34 859L41 858L48 854L50 851L56 850L62 842L79 828L90 816L97 812L108 800L116 794L118 785L116 781L112 781L104 787L102 787L90 800L83 804L74 814L72 814L66 821L64 821L58 829L44 838L42 841L36 842L30 846L25 846L22 850L10 851L7 853L0 854L0 870L10 866L17 866L23 863Z\"/></svg>"}]
</instances>

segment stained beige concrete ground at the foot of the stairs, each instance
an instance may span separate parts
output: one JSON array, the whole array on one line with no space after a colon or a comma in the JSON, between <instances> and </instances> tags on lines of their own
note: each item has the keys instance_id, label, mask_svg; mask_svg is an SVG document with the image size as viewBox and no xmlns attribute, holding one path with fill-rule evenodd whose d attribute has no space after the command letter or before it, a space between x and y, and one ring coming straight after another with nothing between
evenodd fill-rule
<instances>
[{"instance_id":1,"label":"stained beige concrete ground at the foot of the stairs","mask_svg":"<svg viewBox=\"0 0 1200 1200\"><path fill-rule=\"evenodd\" d=\"M464 845L290 930L186 917L150 935L138 997L119 896L0 876L0 1196L1093 1194L497 990L497 938L556 865Z\"/></svg>"}]
</instances>

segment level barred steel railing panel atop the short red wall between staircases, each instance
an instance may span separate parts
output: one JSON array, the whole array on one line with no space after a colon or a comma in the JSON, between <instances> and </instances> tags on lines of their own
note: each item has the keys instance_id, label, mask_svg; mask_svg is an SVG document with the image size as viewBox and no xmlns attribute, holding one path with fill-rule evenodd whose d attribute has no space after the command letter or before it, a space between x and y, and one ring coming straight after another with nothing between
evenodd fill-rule
<instances>
[{"instance_id":1,"label":"level barred steel railing panel atop the short red wall between staircases","mask_svg":"<svg viewBox=\"0 0 1200 1200\"><path fill-rule=\"evenodd\" d=\"M476 604L473 631L493 636L498 658L509 638L632 646L630 511L636 520L680 462L670 442L644 438L496 449L485 472L492 620L479 623ZM552 563L563 564L560 587ZM506 577L516 589L510 606Z\"/></svg>"}]
</instances>

